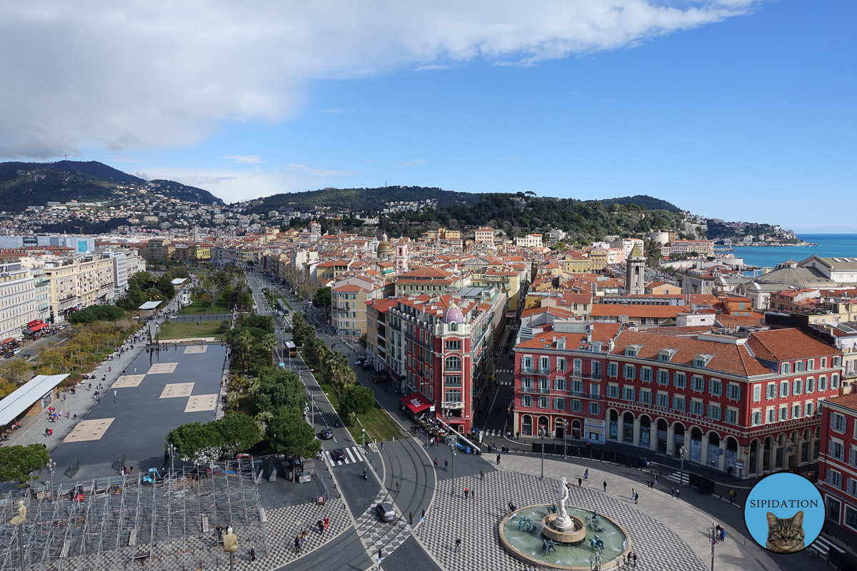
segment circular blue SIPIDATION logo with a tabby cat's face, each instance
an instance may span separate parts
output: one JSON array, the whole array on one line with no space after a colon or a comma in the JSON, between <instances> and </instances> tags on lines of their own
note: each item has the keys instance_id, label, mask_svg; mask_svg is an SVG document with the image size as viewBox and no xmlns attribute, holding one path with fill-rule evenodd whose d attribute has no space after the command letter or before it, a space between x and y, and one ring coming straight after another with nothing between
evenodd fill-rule
<instances>
[{"instance_id":1,"label":"circular blue SIPIDATION logo with a tabby cat's face","mask_svg":"<svg viewBox=\"0 0 857 571\"><path fill-rule=\"evenodd\" d=\"M799 474L770 474L747 495L744 523L753 541L771 553L797 553L821 533L824 499L818 488Z\"/></svg>"}]
</instances>

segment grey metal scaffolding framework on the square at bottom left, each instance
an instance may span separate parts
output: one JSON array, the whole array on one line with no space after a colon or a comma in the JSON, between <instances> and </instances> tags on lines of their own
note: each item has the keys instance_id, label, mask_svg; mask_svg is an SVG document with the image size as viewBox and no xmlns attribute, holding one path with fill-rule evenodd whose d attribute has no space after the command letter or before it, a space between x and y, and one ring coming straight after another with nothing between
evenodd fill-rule
<instances>
[{"instance_id":1,"label":"grey metal scaffolding framework on the square at bottom left","mask_svg":"<svg viewBox=\"0 0 857 571\"><path fill-rule=\"evenodd\" d=\"M151 475L152 478L147 476ZM21 569L17 526L24 500L24 568L228 568L219 543L231 526L241 549L268 554L251 459L213 462L163 476L124 475L58 485L35 496L0 499L0 571Z\"/></svg>"}]
</instances>

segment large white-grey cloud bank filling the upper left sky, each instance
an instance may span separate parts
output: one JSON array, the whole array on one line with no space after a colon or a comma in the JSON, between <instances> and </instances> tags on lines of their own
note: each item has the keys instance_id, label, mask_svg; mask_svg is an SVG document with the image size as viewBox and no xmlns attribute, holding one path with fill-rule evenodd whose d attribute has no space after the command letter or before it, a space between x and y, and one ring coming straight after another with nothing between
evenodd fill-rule
<instances>
[{"instance_id":1,"label":"large white-grey cloud bank filling the upper left sky","mask_svg":"<svg viewBox=\"0 0 857 571\"><path fill-rule=\"evenodd\" d=\"M308 84L437 61L531 65L744 14L754 0L4 2L0 157L192 145L281 122Z\"/></svg>"}]
</instances>

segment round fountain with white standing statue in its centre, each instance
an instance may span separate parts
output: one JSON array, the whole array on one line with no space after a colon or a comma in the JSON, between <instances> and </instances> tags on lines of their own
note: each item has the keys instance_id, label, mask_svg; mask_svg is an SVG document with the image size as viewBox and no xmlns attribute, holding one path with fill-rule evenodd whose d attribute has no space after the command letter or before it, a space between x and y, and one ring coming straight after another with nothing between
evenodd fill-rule
<instances>
[{"instance_id":1,"label":"round fountain with white standing statue in its centre","mask_svg":"<svg viewBox=\"0 0 857 571\"><path fill-rule=\"evenodd\" d=\"M500 541L508 553L524 562L556 569L618 566L631 549L625 530L597 509L566 509L569 487L560 479L554 504L516 509L500 522ZM581 517L582 516L582 517ZM592 559L590 559L590 557Z\"/></svg>"}]
</instances>

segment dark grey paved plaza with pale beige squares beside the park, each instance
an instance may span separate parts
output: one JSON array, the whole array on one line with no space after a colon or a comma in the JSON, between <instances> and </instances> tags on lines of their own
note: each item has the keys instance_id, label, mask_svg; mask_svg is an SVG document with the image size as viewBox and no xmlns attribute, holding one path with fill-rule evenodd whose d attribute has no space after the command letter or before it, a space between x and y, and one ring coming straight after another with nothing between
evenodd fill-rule
<instances>
[{"instance_id":1,"label":"dark grey paved plaza with pale beige squares beside the park","mask_svg":"<svg viewBox=\"0 0 857 571\"><path fill-rule=\"evenodd\" d=\"M153 356L143 352L126 365L129 374L119 372L99 404L51 451L57 482L67 479L59 474L75 460L81 465L111 464L125 455L126 465L136 471L142 461L159 459L159 466L169 431L188 422L213 420L226 349L219 343L203 346L203 352L198 345L193 347L197 350L190 353L183 346Z\"/></svg>"}]
</instances>

